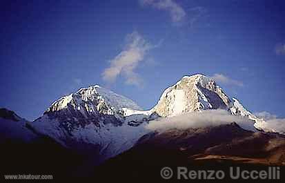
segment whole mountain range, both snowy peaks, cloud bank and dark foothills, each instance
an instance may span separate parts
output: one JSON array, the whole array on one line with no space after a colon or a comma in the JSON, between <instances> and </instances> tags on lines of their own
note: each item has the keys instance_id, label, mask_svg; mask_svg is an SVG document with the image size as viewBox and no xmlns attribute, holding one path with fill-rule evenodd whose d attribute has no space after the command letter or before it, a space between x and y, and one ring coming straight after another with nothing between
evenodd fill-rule
<instances>
[{"instance_id":1,"label":"whole mountain range, both snowy peaks, cloud bank and dark foothills","mask_svg":"<svg viewBox=\"0 0 285 183\"><path fill-rule=\"evenodd\" d=\"M14 158L23 151L27 159L3 158L10 171L95 176L110 169L134 174L130 167L138 164L144 166L136 170L146 164L284 165L284 133L205 75L182 77L150 110L98 85L57 99L32 122L0 110L2 153ZM50 160L44 168L37 162L42 158ZM66 163L55 168L59 161Z\"/></svg>"}]
</instances>

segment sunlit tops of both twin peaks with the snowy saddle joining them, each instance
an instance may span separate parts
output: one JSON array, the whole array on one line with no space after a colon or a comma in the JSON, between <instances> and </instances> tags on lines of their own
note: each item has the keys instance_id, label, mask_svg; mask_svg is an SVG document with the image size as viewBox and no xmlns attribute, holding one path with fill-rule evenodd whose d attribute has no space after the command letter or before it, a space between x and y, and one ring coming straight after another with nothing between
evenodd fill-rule
<instances>
[{"instance_id":1,"label":"sunlit tops of both twin peaks with the snowy saddle joining them","mask_svg":"<svg viewBox=\"0 0 285 183\"><path fill-rule=\"evenodd\" d=\"M160 117L173 117L208 109L222 108L230 110L230 113L245 110L242 105L235 104L239 104L237 99L232 101L213 79L205 75L192 75L182 77L175 85L164 90L159 102L150 110L141 110L131 99L95 85L61 97L46 110L45 114L66 115L77 119L103 114L114 115L122 120L126 116L138 114L156 113ZM246 115L248 114L249 112Z\"/></svg>"}]
</instances>

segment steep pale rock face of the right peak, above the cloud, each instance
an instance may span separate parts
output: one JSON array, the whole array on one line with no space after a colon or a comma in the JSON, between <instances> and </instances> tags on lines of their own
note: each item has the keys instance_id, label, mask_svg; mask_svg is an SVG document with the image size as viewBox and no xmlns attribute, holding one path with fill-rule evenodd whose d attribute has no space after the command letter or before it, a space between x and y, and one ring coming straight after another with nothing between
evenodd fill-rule
<instances>
[{"instance_id":1,"label":"steep pale rock face of the right peak, above the cloud","mask_svg":"<svg viewBox=\"0 0 285 183\"><path fill-rule=\"evenodd\" d=\"M215 81L204 75L185 76L174 86L167 88L152 109L161 117L181 113L228 108L230 99Z\"/></svg>"}]
</instances>

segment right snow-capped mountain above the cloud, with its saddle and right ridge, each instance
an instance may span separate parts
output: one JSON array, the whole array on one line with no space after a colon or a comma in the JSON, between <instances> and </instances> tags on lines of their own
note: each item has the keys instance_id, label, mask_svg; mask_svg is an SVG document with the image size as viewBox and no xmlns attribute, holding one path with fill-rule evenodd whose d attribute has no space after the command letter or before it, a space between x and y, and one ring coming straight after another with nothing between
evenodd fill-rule
<instances>
[{"instance_id":1,"label":"right snow-capped mountain above the cloud, with its saddle and right ridge","mask_svg":"<svg viewBox=\"0 0 285 183\"><path fill-rule=\"evenodd\" d=\"M255 128L259 130L273 131L265 128L264 120L246 110L237 99L230 99L213 79L199 74L184 76L175 85L164 90L159 102L152 109L141 111L124 108L124 114L146 117L155 113L160 117L173 117L210 109L228 110L232 115L241 115L253 120Z\"/></svg>"}]
</instances>

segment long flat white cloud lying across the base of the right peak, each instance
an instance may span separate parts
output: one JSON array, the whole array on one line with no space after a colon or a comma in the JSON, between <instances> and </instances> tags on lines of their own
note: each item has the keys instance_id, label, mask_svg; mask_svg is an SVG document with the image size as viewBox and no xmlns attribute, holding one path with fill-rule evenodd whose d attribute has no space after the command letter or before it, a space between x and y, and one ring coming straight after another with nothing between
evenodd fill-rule
<instances>
[{"instance_id":1,"label":"long flat white cloud lying across the base of the right peak","mask_svg":"<svg viewBox=\"0 0 285 183\"><path fill-rule=\"evenodd\" d=\"M202 110L201 112L184 113L175 117L159 118L150 121L146 128L152 131L167 131L169 129L203 128L236 122L244 129L255 131L253 122L247 117L230 115L226 110Z\"/></svg>"}]
</instances>

